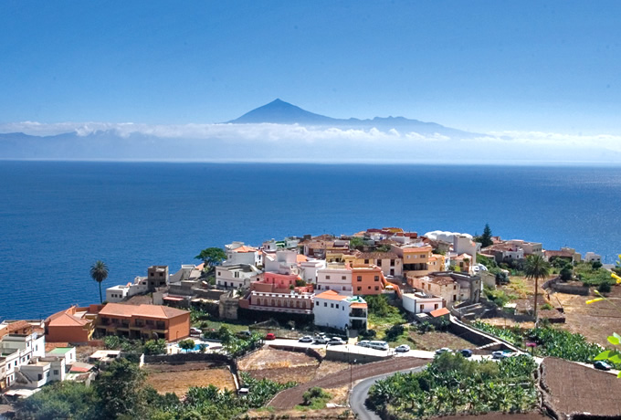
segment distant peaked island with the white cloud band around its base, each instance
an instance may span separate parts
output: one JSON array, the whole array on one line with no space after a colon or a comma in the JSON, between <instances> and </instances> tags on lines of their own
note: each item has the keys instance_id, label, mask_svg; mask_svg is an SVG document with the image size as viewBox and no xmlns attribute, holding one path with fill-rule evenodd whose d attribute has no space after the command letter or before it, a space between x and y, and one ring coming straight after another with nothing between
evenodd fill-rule
<instances>
[{"instance_id":1,"label":"distant peaked island with the white cloud band around its base","mask_svg":"<svg viewBox=\"0 0 621 420\"><path fill-rule=\"evenodd\" d=\"M5 131L5 133L2 133ZM0 124L0 159L217 163L621 162L614 136L477 133L405 117L338 119L272 100L220 123Z\"/></svg>"}]
</instances>

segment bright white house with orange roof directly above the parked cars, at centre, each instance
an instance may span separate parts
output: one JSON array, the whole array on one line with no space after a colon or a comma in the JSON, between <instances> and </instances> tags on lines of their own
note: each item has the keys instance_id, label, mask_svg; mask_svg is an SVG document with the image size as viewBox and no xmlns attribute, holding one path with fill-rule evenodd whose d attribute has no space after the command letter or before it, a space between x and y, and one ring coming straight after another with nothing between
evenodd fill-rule
<instances>
[{"instance_id":1,"label":"bright white house with orange roof directly above the parked cars, at centre","mask_svg":"<svg viewBox=\"0 0 621 420\"><path fill-rule=\"evenodd\" d=\"M344 296L334 290L315 295L315 325L340 330L366 330L367 305L360 296Z\"/></svg>"}]
</instances>

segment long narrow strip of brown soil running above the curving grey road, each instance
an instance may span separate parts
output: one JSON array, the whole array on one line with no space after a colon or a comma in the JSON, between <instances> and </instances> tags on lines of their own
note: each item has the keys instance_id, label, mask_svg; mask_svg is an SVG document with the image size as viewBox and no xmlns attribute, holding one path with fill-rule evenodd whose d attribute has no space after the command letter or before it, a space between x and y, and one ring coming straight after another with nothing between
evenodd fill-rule
<instances>
[{"instance_id":1,"label":"long narrow strip of brown soil running above the curving grey road","mask_svg":"<svg viewBox=\"0 0 621 420\"><path fill-rule=\"evenodd\" d=\"M278 409L291 409L296 405L302 404L302 395L313 386L319 386L321 388L337 388L343 385L349 385L350 381L356 382L373 376L381 375L383 373L393 373L397 371L403 371L405 369L423 366L429 361L423 359L415 359L413 357L397 357L382 362L373 362L367 364L356 364L352 366L351 373L347 371L341 371L332 373L311 381L310 383L303 383L294 388L289 388L279 394L277 394L268 405Z\"/></svg>"}]
</instances>

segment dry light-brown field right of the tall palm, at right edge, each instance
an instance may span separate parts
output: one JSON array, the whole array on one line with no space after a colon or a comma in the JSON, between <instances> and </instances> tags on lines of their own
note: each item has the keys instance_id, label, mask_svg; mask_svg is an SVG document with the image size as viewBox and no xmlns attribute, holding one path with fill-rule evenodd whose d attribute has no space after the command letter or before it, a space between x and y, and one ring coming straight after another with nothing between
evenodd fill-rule
<instances>
[{"instance_id":1,"label":"dry light-brown field right of the tall palm, at right edge","mask_svg":"<svg viewBox=\"0 0 621 420\"><path fill-rule=\"evenodd\" d=\"M615 286L610 301L587 305L586 300L594 299L593 296L554 293L554 299L561 302L565 314L565 323L558 325L567 331L583 334L588 341L606 346L606 337L619 332L621 326L621 297L616 297L620 294L621 287Z\"/></svg>"}]
</instances>

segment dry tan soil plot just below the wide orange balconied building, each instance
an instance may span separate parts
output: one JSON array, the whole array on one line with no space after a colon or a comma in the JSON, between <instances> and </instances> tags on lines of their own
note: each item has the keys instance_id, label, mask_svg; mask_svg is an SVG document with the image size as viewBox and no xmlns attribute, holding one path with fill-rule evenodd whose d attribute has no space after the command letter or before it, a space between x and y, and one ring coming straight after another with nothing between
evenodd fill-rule
<instances>
[{"instance_id":1,"label":"dry tan soil plot just below the wide orange balconied building","mask_svg":"<svg viewBox=\"0 0 621 420\"><path fill-rule=\"evenodd\" d=\"M223 364L189 362L184 364L148 364L147 383L160 394L174 393L181 397L191 386L215 385L219 389L235 390L233 374Z\"/></svg>"}]
</instances>

